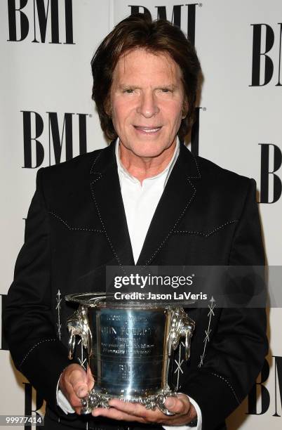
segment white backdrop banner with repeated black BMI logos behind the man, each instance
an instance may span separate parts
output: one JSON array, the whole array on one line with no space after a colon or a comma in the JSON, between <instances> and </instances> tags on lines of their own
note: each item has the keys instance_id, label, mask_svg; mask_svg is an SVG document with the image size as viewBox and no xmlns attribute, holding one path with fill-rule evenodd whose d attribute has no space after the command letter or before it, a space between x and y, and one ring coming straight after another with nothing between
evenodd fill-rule
<instances>
[{"instance_id":1,"label":"white backdrop banner with repeated black BMI logos behind the man","mask_svg":"<svg viewBox=\"0 0 282 430\"><path fill-rule=\"evenodd\" d=\"M37 169L107 145L90 98L90 59L112 27L138 11L170 20L195 44L203 83L187 144L255 178L267 262L282 264L281 0L1 0L2 311ZM282 309L268 313L269 356L229 429L281 429ZM1 332L0 415L42 412Z\"/></svg>"}]
</instances>

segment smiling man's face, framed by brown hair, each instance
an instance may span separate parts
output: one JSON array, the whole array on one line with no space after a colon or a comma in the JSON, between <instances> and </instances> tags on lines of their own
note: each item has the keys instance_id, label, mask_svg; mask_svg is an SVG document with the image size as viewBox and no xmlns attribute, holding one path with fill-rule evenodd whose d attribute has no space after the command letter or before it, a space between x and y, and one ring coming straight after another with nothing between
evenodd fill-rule
<instances>
[{"instance_id":1,"label":"smiling man's face, framed by brown hair","mask_svg":"<svg viewBox=\"0 0 282 430\"><path fill-rule=\"evenodd\" d=\"M161 155L175 144L185 115L180 67L163 53L126 53L114 70L110 103L121 145L137 157Z\"/></svg>"}]
</instances>

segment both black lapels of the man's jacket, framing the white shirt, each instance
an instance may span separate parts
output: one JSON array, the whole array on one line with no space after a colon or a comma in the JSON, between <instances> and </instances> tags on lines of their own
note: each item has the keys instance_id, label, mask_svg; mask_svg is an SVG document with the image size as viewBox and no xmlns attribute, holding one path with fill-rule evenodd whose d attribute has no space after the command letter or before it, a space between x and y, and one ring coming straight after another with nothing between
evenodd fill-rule
<instances>
[{"instance_id":1,"label":"both black lapels of the man's jacket, framing the white shirt","mask_svg":"<svg viewBox=\"0 0 282 430\"><path fill-rule=\"evenodd\" d=\"M201 178L192 153L180 143L180 155L171 171L161 200L149 226L137 265L154 263L196 195L196 180ZM115 141L98 152L90 169L91 195L116 259L116 265L134 265L126 214L123 207L116 166Z\"/></svg>"}]
</instances>

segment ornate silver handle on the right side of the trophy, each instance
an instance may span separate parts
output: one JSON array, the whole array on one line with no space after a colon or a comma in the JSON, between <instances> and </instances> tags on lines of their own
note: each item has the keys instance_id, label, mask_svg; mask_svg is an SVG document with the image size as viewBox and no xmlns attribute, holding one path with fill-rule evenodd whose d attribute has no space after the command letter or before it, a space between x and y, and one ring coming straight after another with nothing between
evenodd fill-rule
<instances>
[{"instance_id":1,"label":"ornate silver handle on the right side of the trophy","mask_svg":"<svg viewBox=\"0 0 282 430\"><path fill-rule=\"evenodd\" d=\"M173 308L170 316L170 332L168 334L168 356L179 345L180 338L185 337L185 360L189 360L191 338L195 323L189 318L183 308Z\"/></svg>"}]
</instances>

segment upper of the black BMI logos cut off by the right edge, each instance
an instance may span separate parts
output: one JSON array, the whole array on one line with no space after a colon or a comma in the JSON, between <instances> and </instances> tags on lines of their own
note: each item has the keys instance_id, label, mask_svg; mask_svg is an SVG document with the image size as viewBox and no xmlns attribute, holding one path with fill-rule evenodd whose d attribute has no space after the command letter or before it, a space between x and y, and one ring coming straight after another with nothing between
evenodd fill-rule
<instances>
[{"instance_id":1,"label":"upper of the black BMI logos cut off by the right edge","mask_svg":"<svg viewBox=\"0 0 282 430\"><path fill-rule=\"evenodd\" d=\"M281 86L281 39L282 23L272 28L268 24L253 26L253 67L252 84L264 86L274 79Z\"/></svg>"}]
</instances>

